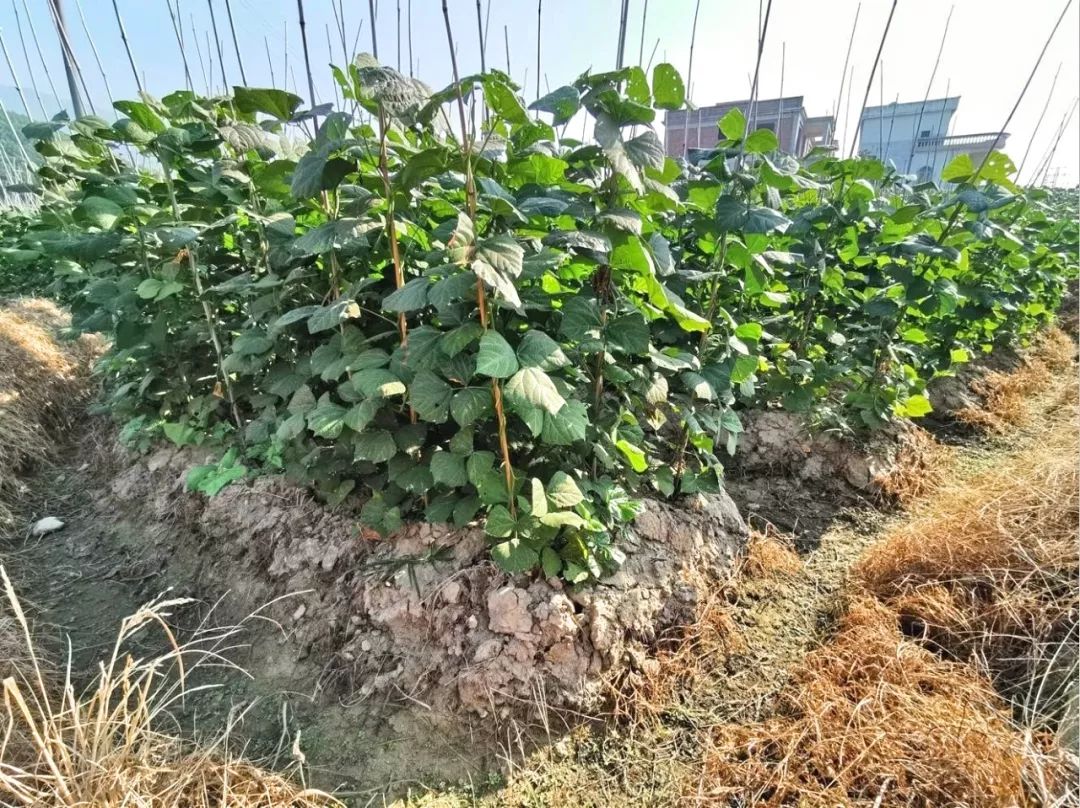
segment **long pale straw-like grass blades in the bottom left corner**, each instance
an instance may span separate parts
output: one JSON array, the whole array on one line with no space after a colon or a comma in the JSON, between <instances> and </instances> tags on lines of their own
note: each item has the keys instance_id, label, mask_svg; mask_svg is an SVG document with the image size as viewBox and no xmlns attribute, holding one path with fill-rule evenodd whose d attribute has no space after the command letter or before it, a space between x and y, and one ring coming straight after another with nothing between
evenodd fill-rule
<instances>
[{"instance_id":1,"label":"long pale straw-like grass blades in the bottom left corner","mask_svg":"<svg viewBox=\"0 0 1080 808\"><path fill-rule=\"evenodd\" d=\"M314 808L339 805L284 777L230 758L225 744L193 749L158 730L185 695L200 661L220 662L225 634L178 646L165 618L184 601L158 601L125 619L94 685L77 695L70 673L50 681L26 619L0 566L26 668L3 679L0 711L0 803L9 806L153 806L153 808ZM122 649L146 627L159 627L170 650L133 659ZM206 645L205 639L212 642Z\"/></svg>"}]
</instances>

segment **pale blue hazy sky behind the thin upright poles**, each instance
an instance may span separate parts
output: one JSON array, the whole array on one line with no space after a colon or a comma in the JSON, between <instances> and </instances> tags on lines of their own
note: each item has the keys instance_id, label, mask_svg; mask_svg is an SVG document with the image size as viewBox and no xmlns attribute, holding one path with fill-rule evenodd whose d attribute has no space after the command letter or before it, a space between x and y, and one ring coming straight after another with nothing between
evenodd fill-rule
<instances>
[{"instance_id":1,"label":"pale blue hazy sky behind the thin upright poles","mask_svg":"<svg viewBox=\"0 0 1080 808\"><path fill-rule=\"evenodd\" d=\"M83 31L77 0L62 0L73 46L98 111L108 107L108 95ZM0 1L0 29L15 63L15 70L35 108L30 73L24 62L13 8L23 16L27 3L53 83L60 95L63 81L59 46L48 12L46 0ZM109 84L118 98L135 96L135 81L120 40L112 0L79 0L89 31L100 53ZM175 2L175 0L174 0ZM372 50L372 27L366 0L343 0L348 48L362 25L359 51ZM645 18L644 48L642 17L646 0L631 0L626 36L626 58L666 60L684 78L689 60L690 32L696 0L649 0ZM135 60L145 76L151 94L163 95L184 85L179 49L170 22L166 0L118 0L132 42ZM225 72L229 83L240 83L240 70L229 32L225 0L213 0L217 15ZM487 59L505 69L504 29L510 44L513 77L526 85L524 95L536 94L537 79L537 2L536 0L482 0L488 19ZM269 44L276 84L307 96L303 57L295 0L231 0L247 83L270 85ZM308 43L312 54L316 94L321 100L333 98L327 63L342 60L340 36L332 11L332 0L305 0ZM443 26L440 0L380 0L377 3L376 32L379 56L384 64L397 65L397 9L402 17L402 69L408 71L406 38L411 4L413 67L416 75L434 87L448 83L449 51ZM851 55L853 68L850 115L847 100L840 105L840 137L847 143L858 118L874 54L889 13L890 0L863 0ZM480 67L475 0L450 0L450 14L458 42L461 71ZM869 103L886 103L897 95L903 100L921 100L933 67L949 8L955 5L945 52L932 89L932 96L960 95L960 108L954 119L954 134L997 131L1015 102L1042 43L1064 6L1064 0L900 0L892 29L882 54L883 92L875 79ZM202 63L210 69L207 36L211 21L207 0L180 0L180 15L188 63L195 89L205 90ZM809 115L832 112L840 85L845 51L858 0L773 0L761 67L762 97L780 93L783 63L785 95L804 95ZM619 0L542 0L540 51L541 91L555 87L585 70L615 66L619 30ZM692 97L698 104L711 104L748 95L750 75L754 69L755 37L759 4L753 0L701 0L694 49ZM48 94L49 84L29 41L25 16L24 33L30 48L33 78ZM192 33L192 27L198 35ZM327 27L333 56L328 55ZM287 30L287 50L286 50ZM1050 91L1051 80L1061 65L1061 75L1049 110L1036 135L1025 174L1047 151L1055 130L1070 109L1080 87L1080 8L1074 3L1047 53L1024 104L1011 123L1008 151L1018 163L1031 139L1036 122ZM212 35L211 35L212 36ZM194 45L198 38L199 45ZM213 50L216 87L222 85L217 48ZM287 55L287 71L286 71ZM295 84L294 84L294 78ZM0 66L0 85L11 84L5 66ZM845 81L847 87L847 81ZM6 95L4 96L8 97ZM851 122L846 127L846 118ZM1074 116L1054 165L1059 169L1058 184L1076 184L1080 172L1080 113Z\"/></svg>"}]
</instances>

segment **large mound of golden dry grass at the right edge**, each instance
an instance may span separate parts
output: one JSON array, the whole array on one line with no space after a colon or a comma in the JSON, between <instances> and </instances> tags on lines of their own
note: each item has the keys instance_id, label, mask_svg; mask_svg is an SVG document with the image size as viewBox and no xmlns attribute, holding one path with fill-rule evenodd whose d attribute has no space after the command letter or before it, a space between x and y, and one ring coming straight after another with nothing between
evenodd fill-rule
<instances>
[{"instance_id":1,"label":"large mound of golden dry grass at the right edge","mask_svg":"<svg viewBox=\"0 0 1080 808\"><path fill-rule=\"evenodd\" d=\"M1080 615L1077 389L1037 441L943 488L870 550L854 579L909 633L985 665L1040 723L1076 686Z\"/></svg>"}]
</instances>

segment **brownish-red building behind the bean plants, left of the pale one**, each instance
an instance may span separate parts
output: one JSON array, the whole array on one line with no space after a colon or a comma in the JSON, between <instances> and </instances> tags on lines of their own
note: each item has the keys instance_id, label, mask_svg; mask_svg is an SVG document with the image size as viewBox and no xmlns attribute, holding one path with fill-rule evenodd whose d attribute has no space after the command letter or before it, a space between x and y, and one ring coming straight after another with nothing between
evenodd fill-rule
<instances>
[{"instance_id":1,"label":"brownish-red building behind the bean plants, left of the pale one","mask_svg":"<svg viewBox=\"0 0 1080 808\"><path fill-rule=\"evenodd\" d=\"M720 119L739 108L750 121L750 102L723 102L693 110L671 110L664 116L664 148L672 157L683 157L688 148L710 149L719 142ZM781 151L801 157L814 146L833 142L834 122L831 116L808 118L802 96L762 98L754 104L755 130L767 129L777 135Z\"/></svg>"}]
</instances>

